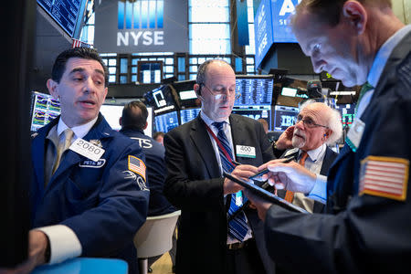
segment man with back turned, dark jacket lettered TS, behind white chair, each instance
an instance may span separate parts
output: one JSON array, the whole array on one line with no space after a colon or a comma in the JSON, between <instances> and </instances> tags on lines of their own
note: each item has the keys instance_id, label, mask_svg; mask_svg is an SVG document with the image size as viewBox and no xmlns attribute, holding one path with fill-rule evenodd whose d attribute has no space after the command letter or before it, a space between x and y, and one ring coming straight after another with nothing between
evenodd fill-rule
<instances>
[{"instance_id":1,"label":"man with back turned, dark jacket lettered TS, behind white chair","mask_svg":"<svg viewBox=\"0 0 411 274\"><path fill-rule=\"evenodd\" d=\"M138 142L145 154L145 163L147 166L147 181L150 188L150 201L148 216L160 216L174 212L176 209L163 195L163 184L167 170L164 162L164 147L153 138L144 134L147 128L148 111L144 103L139 100L133 100L127 103L122 110L120 118L120 132L132 140ZM170 250L170 257L175 265L176 238L173 237L173 248ZM156 258L149 258L149 267Z\"/></svg>"}]
</instances>

